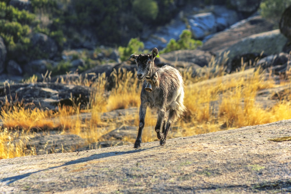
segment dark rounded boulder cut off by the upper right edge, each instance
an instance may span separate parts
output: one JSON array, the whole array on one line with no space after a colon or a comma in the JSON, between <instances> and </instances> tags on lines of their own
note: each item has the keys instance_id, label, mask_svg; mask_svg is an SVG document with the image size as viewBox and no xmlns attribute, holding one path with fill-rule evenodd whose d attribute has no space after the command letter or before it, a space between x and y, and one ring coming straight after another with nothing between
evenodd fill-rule
<instances>
[{"instance_id":1,"label":"dark rounded boulder cut off by the upper right edge","mask_svg":"<svg viewBox=\"0 0 291 194\"><path fill-rule=\"evenodd\" d=\"M291 5L283 12L279 28L281 33L291 41Z\"/></svg>"}]
</instances>

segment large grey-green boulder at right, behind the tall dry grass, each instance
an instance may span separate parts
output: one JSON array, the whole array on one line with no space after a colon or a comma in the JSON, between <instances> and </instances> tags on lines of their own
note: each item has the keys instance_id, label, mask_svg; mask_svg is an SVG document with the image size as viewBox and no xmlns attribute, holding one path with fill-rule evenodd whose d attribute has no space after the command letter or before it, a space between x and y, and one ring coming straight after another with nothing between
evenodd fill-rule
<instances>
[{"instance_id":1,"label":"large grey-green boulder at right, behind the tall dry grass","mask_svg":"<svg viewBox=\"0 0 291 194\"><path fill-rule=\"evenodd\" d=\"M227 71L232 72L241 64L233 63L241 57L248 55L255 58L260 56L263 52L265 55L277 54L283 50L287 38L280 33L280 30L273 30L269 32L259 33L248 36L236 44L225 49L217 58L220 58L220 65L227 65ZM225 58L227 54L227 59ZM240 60L239 60L240 61ZM224 63L224 64L223 64Z\"/></svg>"}]
</instances>

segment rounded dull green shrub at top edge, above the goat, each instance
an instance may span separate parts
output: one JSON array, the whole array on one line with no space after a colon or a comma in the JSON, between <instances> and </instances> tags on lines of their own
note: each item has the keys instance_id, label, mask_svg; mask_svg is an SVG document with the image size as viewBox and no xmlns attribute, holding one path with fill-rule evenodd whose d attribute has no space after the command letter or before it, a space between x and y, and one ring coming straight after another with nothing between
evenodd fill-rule
<instances>
[{"instance_id":1,"label":"rounded dull green shrub at top edge, above the goat","mask_svg":"<svg viewBox=\"0 0 291 194\"><path fill-rule=\"evenodd\" d=\"M159 12L158 3L154 0L134 0L132 9L136 16L144 22L152 22L157 18Z\"/></svg>"}]
</instances>

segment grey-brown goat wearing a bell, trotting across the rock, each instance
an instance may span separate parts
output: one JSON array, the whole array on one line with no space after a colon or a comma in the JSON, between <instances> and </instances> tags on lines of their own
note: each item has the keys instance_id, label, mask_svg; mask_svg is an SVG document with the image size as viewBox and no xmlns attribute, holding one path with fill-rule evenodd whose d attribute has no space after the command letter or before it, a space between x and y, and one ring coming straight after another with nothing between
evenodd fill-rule
<instances>
[{"instance_id":1,"label":"grey-brown goat wearing a bell, trotting across the rock","mask_svg":"<svg viewBox=\"0 0 291 194\"><path fill-rule=\"evenodd\" d=\"M129 57L129 59L135 59L137 64L137 79L139 81L144 79L139 108L139 131L134 148L139 148L141 145L141 134L145 125L147 107L157 108L158 119L155 131L162 146L166 144L172 122L177 121L186 110L183 104L184 82L182 76L177 69L169 65L156 68L154 60L158 53L158 49L154 48L152 54L132 54Z\"/></svg>"}]
</instances>

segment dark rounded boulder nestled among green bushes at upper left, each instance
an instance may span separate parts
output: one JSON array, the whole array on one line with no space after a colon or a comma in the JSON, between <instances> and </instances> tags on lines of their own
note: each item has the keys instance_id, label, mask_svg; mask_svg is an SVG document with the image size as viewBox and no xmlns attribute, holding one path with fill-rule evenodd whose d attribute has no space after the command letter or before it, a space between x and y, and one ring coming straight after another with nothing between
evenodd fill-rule
<instances>
[{"instance_id":1,"label":"dark rounded boulder nestled among green bushes at upper left","mask_svg":"<svg viewBox=\"0 0 291 194\"><path fill-rule=\"evenodd\" d=\"M31 38L33 48L37 48L43 56L48 56L52 59L58 52L56 42L49 36L43 33L35 33Z\"/></svg>"}]
</instances>

